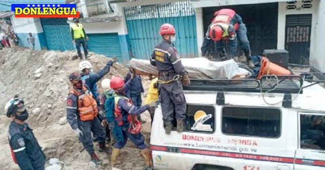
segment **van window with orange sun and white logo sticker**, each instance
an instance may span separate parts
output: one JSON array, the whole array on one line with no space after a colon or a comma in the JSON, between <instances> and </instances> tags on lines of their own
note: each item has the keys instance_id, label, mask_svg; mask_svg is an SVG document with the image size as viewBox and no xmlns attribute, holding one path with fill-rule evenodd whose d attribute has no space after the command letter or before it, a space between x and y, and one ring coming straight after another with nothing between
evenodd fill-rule
<instances>
[{"instance_id":1,"label":"van window with orange sun and white logo sticker","mask_svg":"<svg viewBox=\"0 0 325 170\"><path fill-rule=\"evenodd\" d=\"M209 105L187 105L187 130L213 132L215 108Z\"/></svg>"}]
</instances>

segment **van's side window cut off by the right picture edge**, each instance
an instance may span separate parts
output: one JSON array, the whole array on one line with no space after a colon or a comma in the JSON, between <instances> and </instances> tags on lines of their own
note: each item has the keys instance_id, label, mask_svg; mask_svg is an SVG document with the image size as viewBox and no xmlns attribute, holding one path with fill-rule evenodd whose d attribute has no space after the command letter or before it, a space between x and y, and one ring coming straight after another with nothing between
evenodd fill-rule
<instances>
[{"instance_id":1,"label":"van's side window cut off by the right picture edge","mask_svg":"<svg viewBox=\"0 0 325 170\"><path fill-rule=\"evenodd\" d=\"M300 147L325 150L325 116L300 115Z\"/></svg>"}]
</instances>

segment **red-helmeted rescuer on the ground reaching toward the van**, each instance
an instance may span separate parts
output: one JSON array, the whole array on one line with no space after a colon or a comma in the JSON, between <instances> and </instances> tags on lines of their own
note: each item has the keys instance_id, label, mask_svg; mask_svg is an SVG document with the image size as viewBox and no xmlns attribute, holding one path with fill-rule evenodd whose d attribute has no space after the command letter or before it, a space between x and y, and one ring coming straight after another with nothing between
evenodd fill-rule
<instances>
[{"instance_id":1,"label":"red-helmeted rescuer on the ground reaching toward the van","mask_svg":"<svg viewBox=\"0 0 325 170\"><path fill-rule=\"evenodd\" d=\"M111 157L111 165L118 164L117 157L120 155L121 148L123 148L130 139L141 150L141 154L146 161L146 169L152 169L152 160L148 145L145 144L144 136L141 134L141 122L137 120L136 115L139 115L146 110L156 107L158 103L150 103L142 107L136 107L132 100L125 96L124 80L120 77L113 77L111 79L111 88L115 92L114 96L114 128L120 129L119 139L116 140ZM114 129L115 131L115 129ZM115 136L114 136L115 137Z\"/></svg>"}]
</instances>

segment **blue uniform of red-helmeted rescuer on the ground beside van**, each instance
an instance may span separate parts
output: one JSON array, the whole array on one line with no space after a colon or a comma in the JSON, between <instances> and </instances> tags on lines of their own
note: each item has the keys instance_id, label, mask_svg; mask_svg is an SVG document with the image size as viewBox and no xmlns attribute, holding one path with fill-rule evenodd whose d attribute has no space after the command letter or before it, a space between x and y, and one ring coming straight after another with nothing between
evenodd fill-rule
<instances>
[{"instance_id":1,"label":"blue uniform of red-helmeted rescuer on the ground beside van","mask_svg":"<svg viewBox=\"0 0 325 170\"><path fill-rule=\"evenodd\" d=\"M125 146L127 142L127 138L130 139L139 149L145 149L148 148L148 145L145 144L145 139L144 136L141 134L141 132L137 134L132 134L128 132L128 127L130 123L127 120L127 116L129 114L134 114L134 115L139 115L146 110L149 109L148 105L142 106L142 107L136 107L135 105L132 104L128 99L126 98L120 98L117 102L117 107L122 111L122 121L123 125L121 125L122 128L122 135L124 141L116 142L114 147L121 149Z\"/></svg>"}]
</instances>

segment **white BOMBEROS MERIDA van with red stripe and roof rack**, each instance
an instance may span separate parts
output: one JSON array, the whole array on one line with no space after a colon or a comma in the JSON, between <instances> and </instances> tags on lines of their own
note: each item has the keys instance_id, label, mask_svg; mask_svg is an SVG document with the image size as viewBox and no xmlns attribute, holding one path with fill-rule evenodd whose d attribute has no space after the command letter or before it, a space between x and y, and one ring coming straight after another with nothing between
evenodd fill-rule
<instances>
[{"instance_id":1,"label":"white BOMBEROS MERIDA van with red stripe and roof rack","mask_svg":"<svg viewBox=\"0 0 325 170\"><path fill-rule=\"evenodd\" d=\"M306 74L191 80L185 131L165 134L161 108L155 111L154 168L324 170L323 82Z\"/></svg>"}]
</instances>

